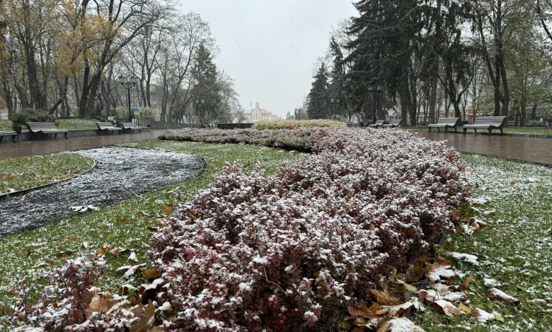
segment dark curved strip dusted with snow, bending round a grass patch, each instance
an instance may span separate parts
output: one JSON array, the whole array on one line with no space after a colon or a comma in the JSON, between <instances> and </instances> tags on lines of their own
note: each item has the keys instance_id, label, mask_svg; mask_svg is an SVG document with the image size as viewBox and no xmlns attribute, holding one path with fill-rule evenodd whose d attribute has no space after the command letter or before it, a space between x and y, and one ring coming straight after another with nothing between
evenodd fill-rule
<instances>
[{"instance_id":1,"label":"dark curved strip dusted with snow, bending round a grass patch","mask_svg":"<svg viewBox=\"0 0 552 332\"><path fill-rule=\"evenodd\" d=\"M95 160L96 167L66 182L0 198L0 237L76 214L70 206L108 206L199 177L207 167L197 155L161 150L108 146L76 153Z\"/></svg>"}]
</instances>

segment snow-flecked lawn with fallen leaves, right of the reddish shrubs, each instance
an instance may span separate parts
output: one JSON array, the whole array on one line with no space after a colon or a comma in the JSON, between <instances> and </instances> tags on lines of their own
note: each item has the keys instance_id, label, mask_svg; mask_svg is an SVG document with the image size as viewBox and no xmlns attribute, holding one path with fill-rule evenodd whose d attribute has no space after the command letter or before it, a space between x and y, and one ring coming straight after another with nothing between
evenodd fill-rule
<instances>
[{"instance_id":1,"label":"snow-flecked lawn with fallen leaves, right of the reddish shrubs","mask_svg":"<svg viewBox=\"0 0 552 332\"><path fill-rule=\"evenodd\" d=\"M465 331L462 326L471 331L552 331L552 170L480 155L462 159L477 184L473 197L488 199L471 213L488 227L473 237L454 235L446 249L481 259L478 268L455 261L456 268L475 278L467 291L469 306L498 312L505 321L480 324L471 317L450 319L432 310L415 321L426 331ZM483 215L492 210L494 215ZM522 305L489 300L483 278L498 280L498 289Z\"/></svg>"}]
</instances>

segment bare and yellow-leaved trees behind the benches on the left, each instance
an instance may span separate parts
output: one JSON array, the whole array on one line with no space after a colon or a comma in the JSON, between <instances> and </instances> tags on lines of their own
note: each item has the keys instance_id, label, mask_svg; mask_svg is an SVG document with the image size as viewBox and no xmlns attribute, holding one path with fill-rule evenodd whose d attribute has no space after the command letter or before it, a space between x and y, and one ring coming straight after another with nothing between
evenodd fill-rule
<instances>
[{"instance_id":1,"label":"bare and yellow-leaved trees behind the benches on the left","mask_svg":"<svg viewBox=\"0 0 552 332\"><path fill-rule=\"evenodd\" d=\"M10 115L18 106L115 115L127 105L119 77L135 75L132 104L162 121L229 121L241 107L217 52L205 20L163 0L0 2L0 95Z\"/></svg>"}]
</instances>

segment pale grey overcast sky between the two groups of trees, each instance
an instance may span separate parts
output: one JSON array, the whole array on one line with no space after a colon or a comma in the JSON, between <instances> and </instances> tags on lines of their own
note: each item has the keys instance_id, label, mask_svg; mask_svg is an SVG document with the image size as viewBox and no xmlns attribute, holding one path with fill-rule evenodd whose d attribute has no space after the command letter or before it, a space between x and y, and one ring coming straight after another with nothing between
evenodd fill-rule
<instances>
[{"instance_id":1,"label":"pale grey overcast sky between the two groups of trees","mask_svg":"<svg viewBox=\"0 0 552 332\"><path fill-rule=\"evenodd\" d=\"M356 14L350 0L180 0L181 11L207 20L246 110L255 102L284 116L311 88L317 57L340 20Z\"/></svg>"}]
</instances>

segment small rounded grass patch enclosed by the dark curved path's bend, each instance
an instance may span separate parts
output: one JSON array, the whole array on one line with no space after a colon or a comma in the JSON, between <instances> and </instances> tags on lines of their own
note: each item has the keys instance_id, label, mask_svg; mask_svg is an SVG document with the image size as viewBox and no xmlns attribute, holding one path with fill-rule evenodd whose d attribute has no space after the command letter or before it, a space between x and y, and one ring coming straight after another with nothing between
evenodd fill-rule
<instances>
[{"instance_id":1,"label":"small rounded grass patch enclosed by the dark curved path's bend","mask_svg":"<svg viewBox=\"0 0 552 332\"><path fill-rule=\"evenodd\" d=\"M0 160L0 194L67 179L93 164L93 160L77 153Z\"/></svg>"}]
</instances>

